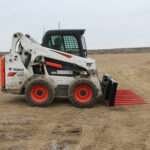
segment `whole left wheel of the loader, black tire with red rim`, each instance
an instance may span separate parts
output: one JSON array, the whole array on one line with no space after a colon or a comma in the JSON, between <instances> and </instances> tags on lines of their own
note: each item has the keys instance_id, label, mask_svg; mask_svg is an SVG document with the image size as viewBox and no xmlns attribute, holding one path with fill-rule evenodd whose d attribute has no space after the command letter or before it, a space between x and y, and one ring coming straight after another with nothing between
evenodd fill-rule
<instances>
[{"instance_id":1,"label":"whole left wheel of the loader, black tire with red rim","mask_svg":"<svg viewBox=\"0 0 150 150\"><path fill-rule=\"evenodd\" d=\"M37 77L27 83L25 95L29 105L47 107L54 100L55 90L49 81Z\"/></svg>"}]
</instances>

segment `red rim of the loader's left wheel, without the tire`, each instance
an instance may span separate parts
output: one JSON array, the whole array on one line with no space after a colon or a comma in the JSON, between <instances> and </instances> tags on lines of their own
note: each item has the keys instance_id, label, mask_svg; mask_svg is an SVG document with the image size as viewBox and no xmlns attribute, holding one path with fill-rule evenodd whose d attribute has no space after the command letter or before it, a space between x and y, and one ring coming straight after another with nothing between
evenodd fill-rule
<instances>
[{"instance_id":1,"label":"red rim of the loader's left wheel, without the tire","mask_svg":"<svg viewBox=\"0 0 150 150\"><path fill-rule=\"evenodd\" d=\"M42 85L35 85L31 90L31 98L36 103L43 103L48 99L48 88Z\"/></svg>"}]
</instances>

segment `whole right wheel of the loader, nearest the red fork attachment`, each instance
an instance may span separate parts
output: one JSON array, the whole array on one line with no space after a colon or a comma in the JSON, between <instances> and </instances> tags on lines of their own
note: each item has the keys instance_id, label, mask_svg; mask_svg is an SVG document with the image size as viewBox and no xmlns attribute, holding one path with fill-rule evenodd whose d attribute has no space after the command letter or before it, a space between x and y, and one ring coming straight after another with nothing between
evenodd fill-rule
<instances>
[{"instance_id":1,"label":"whole right wheel of the loader, nearest the red fork attachment","mask_svg":"<svg viewBox=\"0 0 150 150\"><path fill-rule=\"evenodd\" d=\"M93 82L79 79L69 87L69 100L76 107L93 107L96 103L97 91Z\"/></svg>"}]
</instances>

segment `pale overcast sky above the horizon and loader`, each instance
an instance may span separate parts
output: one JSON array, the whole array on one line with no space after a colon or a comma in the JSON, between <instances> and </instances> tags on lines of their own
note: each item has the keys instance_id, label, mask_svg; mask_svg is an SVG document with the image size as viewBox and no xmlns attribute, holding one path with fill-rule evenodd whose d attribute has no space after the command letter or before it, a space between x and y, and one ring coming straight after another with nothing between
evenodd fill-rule
<instances>
[{"instance_id":1,"label":"pale overcast sky above the horizon and loader","mask_svg":"<svg viewBox=\"0 0 150 150\"><path fill-rule=\"evenodd\" d=\"M12 34L86 29L88 49L150 46L150 0L0 0L0 51Z\"/></svg>"}]
</instances>

